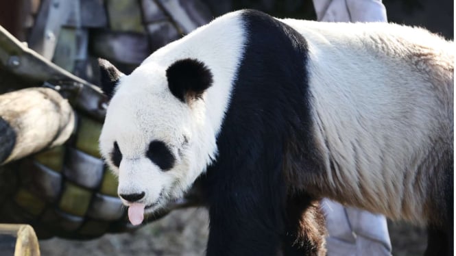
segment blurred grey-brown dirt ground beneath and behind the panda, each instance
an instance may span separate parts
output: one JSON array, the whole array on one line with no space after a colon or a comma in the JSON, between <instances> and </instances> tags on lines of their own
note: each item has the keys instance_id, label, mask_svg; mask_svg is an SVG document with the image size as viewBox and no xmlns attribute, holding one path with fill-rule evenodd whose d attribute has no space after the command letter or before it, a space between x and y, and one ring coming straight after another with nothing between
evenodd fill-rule
<instances>
[{"instance_id":1,"label":"blurred grey-brown dirt ground beneath and behind the panda","mask_svg":"<svg viewBox=\"0 0 456 256\"><path fill-rule=\"evenodd\" d=\"M422 255L427 238L424 229L403 222L388 222L394 256ZM104 235L81 242L52 238L40 241L43 256L106 255L204 255L208 237L206 209L174 211L133 233Z\"/></svg>"}]
</instances>

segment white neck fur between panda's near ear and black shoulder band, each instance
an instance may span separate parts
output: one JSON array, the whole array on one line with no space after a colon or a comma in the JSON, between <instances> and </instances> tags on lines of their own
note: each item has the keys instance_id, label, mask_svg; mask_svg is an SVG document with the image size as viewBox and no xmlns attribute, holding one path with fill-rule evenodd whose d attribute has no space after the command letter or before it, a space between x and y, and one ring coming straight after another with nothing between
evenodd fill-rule
<instances>
[{"instance_id":1,"label":"white neck fur between panda's near ear and black shoulder band","mask_svg":"<svg viewBox=\"0 0 456 256\"><path fill-rule=\"evenodd\" d=\"M206 91L204 105L207 123L215 137L228 111L244 53L245 31L241 23L239 15L228 14L202 27L201 31L192 35L193 38L189 38L195 39L195 48L204 49L197 52L197 58L210 68L213 75L213 85ZM201 44L206 45L202 47Z\"/></svg>"}]
</instances>

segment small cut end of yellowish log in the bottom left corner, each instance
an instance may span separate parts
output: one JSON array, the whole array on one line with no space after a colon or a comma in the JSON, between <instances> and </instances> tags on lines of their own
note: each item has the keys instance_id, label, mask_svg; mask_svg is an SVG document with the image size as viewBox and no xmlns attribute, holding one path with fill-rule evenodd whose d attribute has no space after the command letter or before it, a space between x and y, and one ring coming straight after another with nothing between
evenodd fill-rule
<instances>
[{"instance_id":1,"label":"small cut end of yellowish log in the bottom left corner","mask_svg":"<svg viewBox=\"0 0 456 256\"><path fill-rule=\"evenodd\" d=\"M40 256L34 229L29 225L0 224L0 255Z\"/></svg>"}]
</instances>

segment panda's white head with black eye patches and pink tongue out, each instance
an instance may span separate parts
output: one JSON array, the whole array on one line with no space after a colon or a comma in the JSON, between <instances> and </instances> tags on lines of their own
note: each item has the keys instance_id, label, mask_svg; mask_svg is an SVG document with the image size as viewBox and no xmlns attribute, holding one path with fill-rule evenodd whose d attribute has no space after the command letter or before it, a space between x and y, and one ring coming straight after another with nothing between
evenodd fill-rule
<instances>
[{"instance_id":1,"label":"panda's white head with black eye patches and pink tongue out","mask_svg":"<svg viewBox=\"0 0 456 256\"><path fill-rule=\"evenodd\" d=\"M145 62L126 76L100 68L101 77L110 71L117 84L100 151L119 177L118 193L130 207L130 220L135 224L136 216L139 224L144 213L179 199L213 157L206 149L215 139L208 139L213 131L204 105L213 75L193 58Z\"/></svg>"}]
</instances>

